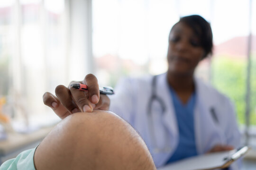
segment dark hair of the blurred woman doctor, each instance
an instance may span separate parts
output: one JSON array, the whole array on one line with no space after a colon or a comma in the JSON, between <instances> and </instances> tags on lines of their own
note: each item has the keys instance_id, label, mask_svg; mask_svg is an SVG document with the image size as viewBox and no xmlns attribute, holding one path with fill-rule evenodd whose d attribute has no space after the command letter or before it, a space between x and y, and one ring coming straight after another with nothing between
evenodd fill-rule
<instances>
[{"instance_id":1,"label":"dark hair of the blurred woman doctor","mask_svg":"<svg viewBox=\"0 0 256 170\"><path fill-rule=\"evenodd\" d=\"M208 54L212 54L212 31L209 22L207 22L203 17L199 15L191 15L181 17L175 25L177 25L178 23L183 23L189 26L190 28L192 28L193 32L199 37L201 47L205 51L202 59L205 59ZM172 27L172 29L174 28L174 26Z\"/></svg>"}]
</instances>

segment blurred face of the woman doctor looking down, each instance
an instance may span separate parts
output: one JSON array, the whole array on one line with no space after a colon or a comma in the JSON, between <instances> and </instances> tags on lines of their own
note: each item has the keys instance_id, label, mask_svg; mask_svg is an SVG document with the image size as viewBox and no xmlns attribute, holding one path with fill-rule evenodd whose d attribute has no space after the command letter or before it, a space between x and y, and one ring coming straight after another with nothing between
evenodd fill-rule
<instances>
[{"instance_id":1,"label":"blurred face of the woman doctor looking down","mask_svg":"<svg viewBox=\"0 0 256 170\"><path fill-rule=\"evenodd\" d=\"M192 76L204 53L200 39L192 28L182 22L177 23L169 36L168 72Z\"/></svg>"}]
</instances>

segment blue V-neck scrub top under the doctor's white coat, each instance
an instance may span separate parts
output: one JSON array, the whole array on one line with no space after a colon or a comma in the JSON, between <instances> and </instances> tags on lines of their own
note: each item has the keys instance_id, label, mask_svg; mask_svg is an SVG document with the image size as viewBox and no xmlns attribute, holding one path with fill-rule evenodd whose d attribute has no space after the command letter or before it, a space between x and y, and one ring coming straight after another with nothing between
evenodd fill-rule
<instances>
[{"instance_id":1,"label":"blue V-neck scrub top under the doctor's white coat","mask_svg":"<svg viewBox=\"0 0 256 170\"><path fill-rule=\"evenodd\" d=\"M194 108L196 93L193 93L189 101L183 104L175 91L170 87L175 115L179 128L179 142L176 150L166 164L184 158L197 155L194 132Z\"/></svg>"}]
</instances>

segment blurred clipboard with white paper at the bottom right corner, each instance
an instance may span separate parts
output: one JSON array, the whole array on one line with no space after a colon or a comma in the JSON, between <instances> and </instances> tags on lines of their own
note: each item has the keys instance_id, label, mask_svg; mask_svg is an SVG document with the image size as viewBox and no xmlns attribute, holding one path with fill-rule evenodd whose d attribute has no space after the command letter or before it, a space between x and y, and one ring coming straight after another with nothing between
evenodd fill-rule
<instances>
[{"instance_id":1,"label":"blurred clipboard with white paper at the bottom right corner","mask_svg":"<svg viewBox=\"0 0 256 170\"><path fill-rule=\"evenodd\" d=\"M246 154L249 149L250 147L243 146L231 151L197 155L176 161L157 170L213 170L227 168L231 163Z\"/></svg>"}]
</instances>

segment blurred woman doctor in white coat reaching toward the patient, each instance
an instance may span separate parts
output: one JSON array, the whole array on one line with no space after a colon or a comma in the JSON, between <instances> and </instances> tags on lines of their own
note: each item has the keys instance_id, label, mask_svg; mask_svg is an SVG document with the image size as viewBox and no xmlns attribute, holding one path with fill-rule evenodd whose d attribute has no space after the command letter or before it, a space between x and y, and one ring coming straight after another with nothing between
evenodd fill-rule
<instances>
[{"instance_id":1,"label":"blurred woman doctor in white coat reaching toward the patient","mask_svg":"<svg viewBox=\"0 0 256 170\"><path fill-rule=\"evenodd\" d=\"M237 148L240 133L230 100L194 76L198 63L212 52L210 24L198 15L182 17L170 31L165 74L126 78L115 95L99 96L97 79L82 81L88 93L57 86L45 104L60 117L79 110L110 110L128 121L146 142L156 167L208 152ZM72 82L73 83L73 82ZM91 87L91 89L90 89ZM88 98L88 99L87 99ZM63 107L62 106L62 107ZM237 170L233 163L229 169Z\"/></svg>"}]
</instances>

